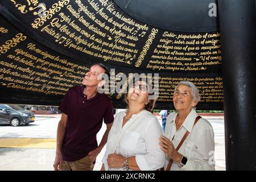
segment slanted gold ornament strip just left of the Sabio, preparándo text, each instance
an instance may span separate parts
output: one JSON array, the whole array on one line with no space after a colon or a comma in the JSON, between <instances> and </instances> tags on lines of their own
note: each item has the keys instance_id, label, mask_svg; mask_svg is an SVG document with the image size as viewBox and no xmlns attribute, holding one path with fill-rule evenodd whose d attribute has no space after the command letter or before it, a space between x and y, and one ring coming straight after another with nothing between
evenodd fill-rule
<instances>
[{"instance_id":1,"label":"slanted gold ornament strip just left of the Sabio, prepar\u00e1ndo text","mask_svg":"<svg viewBox=\"0 0 256 182\"><path fill-rule=\"evenodd\" d=\"M144 60L144 57L146 56L147 51L148 51L148 49L150 48L150 46L151 46L153 40L155 39L155 35L156 35L157 33L158 33L158 29L153 28L153 29L151 30L151 34L148 35L148 39L147 39L147 41L146 41L146 44L145 44L145 46L143 47L142 52L140 53L137 62L135 63L135 67L140 67L140 66L141 66L141 63L142 63L142 61Z\"/></svg>"}]
</instances>

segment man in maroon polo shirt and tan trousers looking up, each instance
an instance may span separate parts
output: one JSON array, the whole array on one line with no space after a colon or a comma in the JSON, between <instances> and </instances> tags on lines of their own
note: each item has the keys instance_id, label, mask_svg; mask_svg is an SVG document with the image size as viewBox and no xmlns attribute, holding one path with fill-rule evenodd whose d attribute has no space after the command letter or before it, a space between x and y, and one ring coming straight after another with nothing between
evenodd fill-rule
<instances>
[{"instance_id":1,"label":"man in maroon polo shirt and tan trousers looking up","mask_svg":"<svg viewBox=\"0 0 256 182\"><path fill-rule=\"evenodd\" d=\"M104 73L110 76L105 65L92 65L82 85L69 89L61 102L59 110L63 114L57 127L55 170L93 170L114 120L112 100L98 92L98 86L105 83L101 80ZM96 135L103 120L106 131L98 146Z\"/></svg>"}]
</instances>

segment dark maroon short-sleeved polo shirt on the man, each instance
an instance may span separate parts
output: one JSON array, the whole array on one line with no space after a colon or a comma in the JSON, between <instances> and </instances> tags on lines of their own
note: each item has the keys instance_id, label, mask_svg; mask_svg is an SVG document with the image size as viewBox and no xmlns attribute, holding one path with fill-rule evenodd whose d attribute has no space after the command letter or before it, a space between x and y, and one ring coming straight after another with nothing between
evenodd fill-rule
<instances>
[{"instance_id":1,"label":"dark maroon short-sleeved polo shirt on the man","mask_svg":"<svg viewBox=\"0 0 256 182\"><path fill-rule=\"evenodd\" d=\"M63 159L69 162L84 158L98 147L96 135L102 121L114 121L112 100L97 92L87 100L85 86L74 86L64 96L59 110L68 115L67 127L62 144Z\"/></svg>"}]
</instances>

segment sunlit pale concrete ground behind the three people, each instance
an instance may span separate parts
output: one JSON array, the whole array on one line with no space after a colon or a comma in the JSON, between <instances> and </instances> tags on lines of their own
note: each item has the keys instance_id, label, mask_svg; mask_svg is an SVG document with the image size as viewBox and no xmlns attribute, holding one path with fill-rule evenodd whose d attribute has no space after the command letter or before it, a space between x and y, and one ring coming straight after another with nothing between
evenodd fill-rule
<instances>
[{"instance_id":1,"label":"sunlit pale concrete ground behind the three people","mask_svg":"<svg viewBox=\"0 0 256 182\"><path fill-rule=\"evenodd\" d=\"M225 170L224 119L204 117L212 124L215 134L216 170ZM56 150L56 131L60 114L36 115L28 126L0 125L0 170L51 171ZM161 119L159 119L161 124ZM97 135L98 143L106 127ZM94 170L100 170L105 148L98 155Z\"/></svg>"}]
</instances>

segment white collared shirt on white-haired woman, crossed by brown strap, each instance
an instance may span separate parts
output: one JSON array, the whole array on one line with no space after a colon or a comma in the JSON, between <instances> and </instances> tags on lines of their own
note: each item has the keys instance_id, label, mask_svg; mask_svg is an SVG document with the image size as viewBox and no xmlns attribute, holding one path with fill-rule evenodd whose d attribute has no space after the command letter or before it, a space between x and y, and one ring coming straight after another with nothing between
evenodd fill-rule
<instances>
[{"instance_id":1,"label":"white collared shirt on white-haired woman, crossed by brown strap","mask_svg":"<svg viewBox=\"0 0 256 182\"><path fill-rule=\"evenodd\" d=\"M214 170L214 133L212 125L206 119L201 118L193 127L197 116L195 109L192 109L179 130L176 130L175 124L177 113L171 113L167 117L164 137L170 139L175 148L180 143L184 134L189 131L187 139L185 139L178 151L181 155L187 157L187 163L179 168L174 161L170 169L171 171ZM172 140L173 137L174 140ZM165 169L168 166L169 160L170 158L167 157L164 164Z\"/></svg>"}]
</instances>

